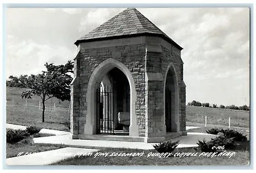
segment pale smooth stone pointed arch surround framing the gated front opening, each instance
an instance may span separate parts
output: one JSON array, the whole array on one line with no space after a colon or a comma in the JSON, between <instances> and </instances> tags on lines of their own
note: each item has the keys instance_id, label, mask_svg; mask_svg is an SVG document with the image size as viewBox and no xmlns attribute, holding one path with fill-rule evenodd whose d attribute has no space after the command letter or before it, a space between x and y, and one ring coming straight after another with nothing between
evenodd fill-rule
<instances>
[{"instance_id":1,"label":"pale smooth stone pointed arch surround framing the gated front opening","mask_svg":"<svg viewBox=\"0 0 256 173\"><path fill-rule=\"evenodd\" d=\"M134 79L132 77L131 71L120 61L116 59L106 59L102 61L90 77L88 82L88 89L86 95L86 102L87 102L87 115L86 115L86 124L84 125L84 133L86 135L93 135L96 133L96 100L95 100L95 92L97 86L99 86L100 82L104 78L104 75L108 73L113 68L118 68L121 70L127 80L129 81L130 91L131 91L131 102L130 102L130 127L129 127L129 135L138 137L139 136L139 129L136 120L136 112L135 112L135 102L136 102L136 90Z\"/></svg>"}]
</instances>

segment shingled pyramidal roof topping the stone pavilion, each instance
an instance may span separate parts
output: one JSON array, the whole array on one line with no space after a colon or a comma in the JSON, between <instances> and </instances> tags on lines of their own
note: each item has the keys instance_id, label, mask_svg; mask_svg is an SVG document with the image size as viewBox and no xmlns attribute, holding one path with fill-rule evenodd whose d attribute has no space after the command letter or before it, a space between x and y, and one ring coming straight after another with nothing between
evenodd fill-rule
<instances>
[{"instance_id":1,"label":"shingled pyramidal roof topping the stone pavilion","mask_svg":"<svg viewBox=\"0 0 256 173\"><path fill-rule=\"evenodd\" d=\"M127 38L134 36L160 36L182 50L175 41L143 16L136 8L127 8L115 17L76 41L76 45L82 42Z\"/></svg>"}]
</instances>

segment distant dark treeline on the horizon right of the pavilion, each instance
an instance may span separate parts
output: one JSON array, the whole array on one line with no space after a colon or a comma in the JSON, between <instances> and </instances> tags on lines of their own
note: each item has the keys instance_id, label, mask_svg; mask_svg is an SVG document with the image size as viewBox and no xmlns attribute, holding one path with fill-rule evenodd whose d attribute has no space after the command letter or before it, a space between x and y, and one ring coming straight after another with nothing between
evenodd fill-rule
<instances>
[{"instance_id":1,"label":"distant dark treeline on the horizon right of the pavilion","mask_svg":"<svg viewBox=\"0 0 256 173\"><path fill-rule=\"evenodd\" d=\"M237 107L235 105L229 105L229 106L220 105L220 106L218 106L216 104L212 104L212 106L211 106L209 103L200 103L196 100L189 102L188 105L195 106L195 107L213 107L213 108L220 108L220 109L250 110L250 107L248 107L247 105Z\"/></svg>"}]
</instances>

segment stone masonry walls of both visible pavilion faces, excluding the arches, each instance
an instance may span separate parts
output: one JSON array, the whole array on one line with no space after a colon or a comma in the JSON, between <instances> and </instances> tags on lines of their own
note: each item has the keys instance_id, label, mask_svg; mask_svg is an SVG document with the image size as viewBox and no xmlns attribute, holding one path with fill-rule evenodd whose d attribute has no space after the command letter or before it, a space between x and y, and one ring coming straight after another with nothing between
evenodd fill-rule
<instances>
[{"instance_id":1,"label":"stone masonry walls of both visible pavilion faces, excluding the arches","mask_svg":"<svg viewBox=\"0 0 256 173\"><path fill-rule=\"evenodd\" d=\"M161 45L161 52L146 52L145 43L102 47L97 49L84 49L74 60L74 84L71 87L71 133L84 134L86 123L87 103L86 93L89 79L95 68L102 61L113 58L123 63L131 71L136 90L136 117L140 137L163 137L166 133L164 118L164 77L168 65L172 62L175 66L179 84L179 121L180 131L186 131L186 86L183 81L183 62L180 52L173 47ZM161 74L161 80L146 81L145 73ZM74 102L72 102L74 101ZM146 116L147 114L147 116ZM147 117L147 119L146 119Z\"/></svg>"}]
</instances>

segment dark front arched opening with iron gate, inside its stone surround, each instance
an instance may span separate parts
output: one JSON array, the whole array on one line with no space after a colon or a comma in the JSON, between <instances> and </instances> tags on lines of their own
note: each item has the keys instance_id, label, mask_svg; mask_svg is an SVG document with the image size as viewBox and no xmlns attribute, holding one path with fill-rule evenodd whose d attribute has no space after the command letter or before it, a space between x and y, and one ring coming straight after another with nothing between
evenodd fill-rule
<instances>
[{"instance_id":1,"label":"dark front arched opening with iron gate, inside its stone surround","mask_svg":"<svg viewBox=\"0 0 256 173\"><path fill-rule=\"evenodd\" d=\"M113 68L96 92L97 133L129 135L130 87L125 74Z\"/></svg>"}]
</instances>

